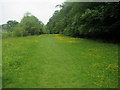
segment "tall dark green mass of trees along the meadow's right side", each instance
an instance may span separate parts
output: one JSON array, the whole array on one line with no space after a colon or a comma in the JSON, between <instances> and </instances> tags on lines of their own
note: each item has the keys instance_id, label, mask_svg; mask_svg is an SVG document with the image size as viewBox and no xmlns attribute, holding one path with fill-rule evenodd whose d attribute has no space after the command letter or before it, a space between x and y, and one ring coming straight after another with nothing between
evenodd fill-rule
<instances>
[{"instance_id":1,"label":"tall dark green mass of trees along the meadow's right side","mask_svg":"<svg viewBox=\"0 0 120 90\"><path fill-rule=\"evenodd\" d=\"M47 23L50 33L69 36L117 39L120 3L66 2Z\"/></svg>"}]
</instances>

